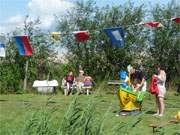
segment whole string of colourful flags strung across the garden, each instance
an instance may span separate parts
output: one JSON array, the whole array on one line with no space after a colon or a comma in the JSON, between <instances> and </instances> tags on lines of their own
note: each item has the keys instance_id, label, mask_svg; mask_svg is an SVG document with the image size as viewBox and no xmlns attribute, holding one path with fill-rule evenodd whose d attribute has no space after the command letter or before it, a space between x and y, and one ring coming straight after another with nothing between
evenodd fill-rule
<instances>
[{"instance_id":1,"label":"whole string of colourful flags strung across the garden","mask_svg":"<svg viewBox=\"0 0 180 135\"><path fill-rule=\"evenodd\" d=\"M180 24L180 17L171 18L168 20L171 20L177 24ZM163 25L160 22L154 22L154 21L140 22L140 23L134 24L134 25L138 25L138 26L141 25L141 26L145 26L148 28L163 27ZM124 30L122 27L105 28L105 29L103 29L103 32L105 32L107 34L107 36L109 37L112 46L116 46L116 47L124 46L125 33L124 33ZM75 31L75 32L73 32L73 34L74 34L77 42L85 42L90 39L90 35L89 35L88 31ZM62 33L60 33L60 32L52 32L51 33L52 38L54 38L55 40L59 40L60 35L62 35ZM29 42L28 36L27 35L15 36L14 38L15 38L15 42L16 42L16 46L17 46L19 54L21 56L32 56L33 49ZM3 41L1 39L0 39L0 57L5 57L5 43L3 43Z\"/></svg>"}]
</instances>

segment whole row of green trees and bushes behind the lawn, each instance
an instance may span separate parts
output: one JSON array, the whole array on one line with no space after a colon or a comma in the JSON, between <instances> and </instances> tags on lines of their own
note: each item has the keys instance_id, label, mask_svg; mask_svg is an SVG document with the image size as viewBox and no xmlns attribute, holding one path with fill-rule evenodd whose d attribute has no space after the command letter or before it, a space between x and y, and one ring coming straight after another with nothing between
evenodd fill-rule
<instances>
[{"instance_id":1,"label":"whole row of green trees and bushes behind the lawn","mask_svg":"<svg viewBox=\"0 0 180 135\"><path fill-rule=\"evenodd\" d=\"M120 70L128 64L142 68L146 78L155 73L153 65L163 66L167 81L171 85L180 83L180 26L167 19L180 15L180 6L172 1L167 5L147 8L127 2L124 5L98 7L94 1L76 2L66 16L56 16L57 31L62 31L60 41L55 41L38 27L39 19L24 21L24 28L6 35L6 58L0 61L0 92L21 92L25 76L25 63L28 67L28 89L34 80L57 79L68 70L78 74L81 66L96 82L104 79L117 79ZM148 29L138 24L144 20L161 22L164 27ZM123 27L125 46L111 46L109 38L102 32L104 28ZM78 43L72 34L75 30L89 30L90 40ZM19 56L13 36L18 32L29 36L32 57ZM68 63L57 61L57 48L62 46Z\"/></svg>"}]
</instances>

